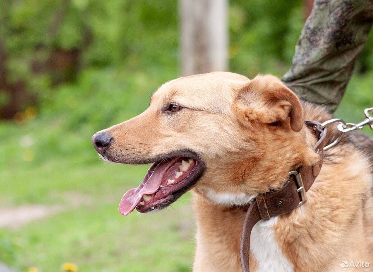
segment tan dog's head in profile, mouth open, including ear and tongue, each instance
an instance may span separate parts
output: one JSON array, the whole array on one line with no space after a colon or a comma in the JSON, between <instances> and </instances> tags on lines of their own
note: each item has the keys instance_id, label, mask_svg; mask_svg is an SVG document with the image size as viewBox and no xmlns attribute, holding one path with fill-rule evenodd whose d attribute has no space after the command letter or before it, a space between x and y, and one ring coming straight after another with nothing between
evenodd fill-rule
<instances>
[{"instance_id":1,"label":"tan dog's head in profile, mouth open, including ear and tongue","mask_svg":"<svg viewBox=\"0 0 373 272\"><path fill-rule=\"evenodd\" d=\"M192 187L227 205L278 188L292 167L317 160L302 128L301 103L278 78L214 72L167 82L145 112L92 140L111 162L153 163L123 196L127 215L166 207Z\"/></svg>"}]
</instances>

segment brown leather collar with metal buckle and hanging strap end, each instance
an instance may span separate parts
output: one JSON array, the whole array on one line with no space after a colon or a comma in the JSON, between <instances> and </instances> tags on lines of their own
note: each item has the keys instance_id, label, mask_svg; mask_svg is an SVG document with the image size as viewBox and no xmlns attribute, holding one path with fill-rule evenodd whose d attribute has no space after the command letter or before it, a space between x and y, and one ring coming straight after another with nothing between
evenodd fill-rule
<instances>
[{"instance_id":1,"label":"brown leather collar with metal buckle and hanging strap end","mask_svg":"<svg viewBox=\"0 0 373 272\"><path fill-rule=\"evenodd\" d=\"M302 205L307 200L305 192L311 188L320 172L326 128L321 129L321 124L315 121L305 121L305 123L312 128L317 138L313 150L320 154L319 162L311 166L301 166L296 171L289 172L290 178L281 189L261 194L246 206L238 207L246 212L239 248L242 272L250 272L250 235L254 225L261 219L268 220L273 216L289 213Z\"/></svg>"}]
</instances>

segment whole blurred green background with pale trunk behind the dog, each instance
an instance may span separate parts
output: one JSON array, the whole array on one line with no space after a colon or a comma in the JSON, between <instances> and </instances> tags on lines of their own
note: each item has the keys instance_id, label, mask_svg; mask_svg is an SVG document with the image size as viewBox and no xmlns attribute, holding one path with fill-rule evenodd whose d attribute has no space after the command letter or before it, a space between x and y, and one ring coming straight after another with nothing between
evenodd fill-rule
<instances>
[{"instance_id":1,"label":"whole blurred green background with pale trunk behind the dog","mask_svg":"<svg viewBox=\"0 0 373 272\"><path fill-rule=\"evenodd\" d=\"M120 198L147 166L103 163L91 135L141 113L160 84L180 75L281 77L311 7L0 0L0 267L191 271L190 195L154 215L123 217ZM361 121L372 94L371 33L336 116Z\"/></svg>"}]
</instances>

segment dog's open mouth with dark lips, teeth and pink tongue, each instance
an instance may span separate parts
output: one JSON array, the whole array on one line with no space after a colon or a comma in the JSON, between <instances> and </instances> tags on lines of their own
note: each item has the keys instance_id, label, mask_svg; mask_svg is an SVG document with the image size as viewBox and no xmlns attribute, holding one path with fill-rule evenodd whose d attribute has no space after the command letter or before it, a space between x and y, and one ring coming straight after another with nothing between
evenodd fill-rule
<instances>
[{"instance_id":1,"label":"dog's open mouth with dark lips, teeth and pink tongue","mask_svg":"<svg viewBox=\"0 0 373 272\"><path fill-rule=\"evenodd\" d=\"M146 213L167 207L194 185L201 172L201 163L189 157L155 162L141 184L122 197L119 212L126 216L135 208Z\"/></svg>"}]
</instances>

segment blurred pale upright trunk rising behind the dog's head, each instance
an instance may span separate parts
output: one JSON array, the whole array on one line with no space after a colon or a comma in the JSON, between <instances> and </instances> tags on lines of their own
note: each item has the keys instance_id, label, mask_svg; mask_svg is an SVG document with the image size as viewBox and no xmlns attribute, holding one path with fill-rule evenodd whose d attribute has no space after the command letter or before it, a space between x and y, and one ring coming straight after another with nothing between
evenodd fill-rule
<instances>
[{"instance_id":1,"label":"blurred pale upright trunk rising behind the dog's head","mask_svg":"<svg viewBox=\"0 0 373 272\"><path fill-rule=\"evenodd\" d=\"M180 0L182 75L226 71L228 1Z\"/></svg>"}]
</instances>

